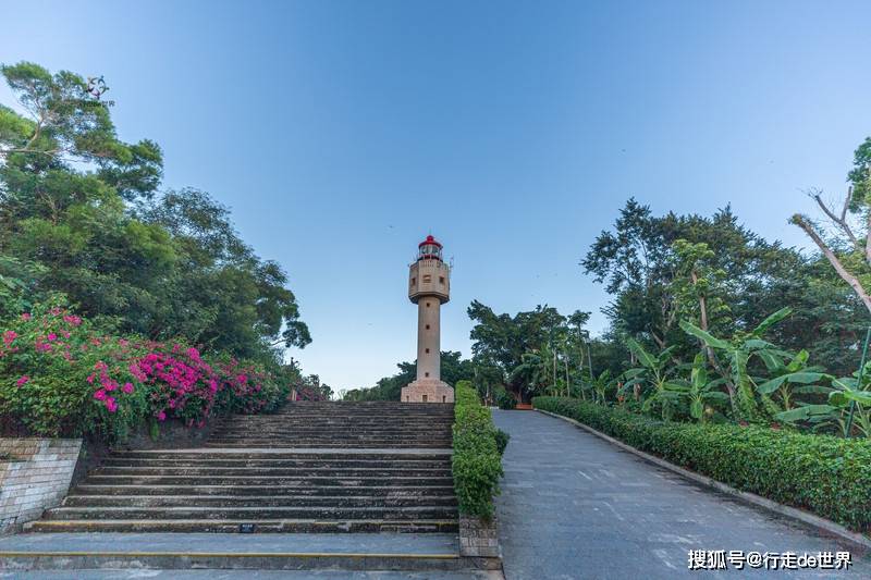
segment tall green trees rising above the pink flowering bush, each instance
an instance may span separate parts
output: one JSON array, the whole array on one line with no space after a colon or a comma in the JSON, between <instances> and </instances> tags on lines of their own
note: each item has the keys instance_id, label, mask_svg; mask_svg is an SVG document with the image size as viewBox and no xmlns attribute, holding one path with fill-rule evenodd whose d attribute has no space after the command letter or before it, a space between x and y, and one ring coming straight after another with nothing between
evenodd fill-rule
<instances>
[{"instance_id":1,"label":"tall green trees rising above the pink flowering bush","mask_svg":"<svg viewBox=\"0 0 871 580\"><path fill-rule=\"evenodd\" d=\"M0 73L24 111L0 104L0 320L62 293L123 334L240 358L310 342L281 268L207 194L161 193L158 145L120 140L85 79Z\"/></svg>"}]
</instances>

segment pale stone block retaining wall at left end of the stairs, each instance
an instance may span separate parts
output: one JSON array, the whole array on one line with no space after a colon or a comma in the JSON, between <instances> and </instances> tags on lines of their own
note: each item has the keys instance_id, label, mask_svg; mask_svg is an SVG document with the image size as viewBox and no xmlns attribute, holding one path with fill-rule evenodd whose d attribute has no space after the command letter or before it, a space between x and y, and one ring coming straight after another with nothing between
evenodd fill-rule
<instances>
[{"instance_id":1,"label":"pale stone block retaining wall at left end of the stairs","mask_svg":"<svg viewBox=\"0 0 871 580\"><path fill-rule=\"evenodd\" d=\"M81 439L0 437L0 534L17 531L26 521L66 496Z\"/></svg>"}]
</instances>

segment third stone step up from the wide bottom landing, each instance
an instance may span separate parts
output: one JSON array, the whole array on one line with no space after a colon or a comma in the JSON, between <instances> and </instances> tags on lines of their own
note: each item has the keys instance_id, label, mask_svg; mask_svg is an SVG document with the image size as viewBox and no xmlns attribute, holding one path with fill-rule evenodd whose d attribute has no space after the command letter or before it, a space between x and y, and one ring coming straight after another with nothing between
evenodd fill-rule
<instances>
[{"instance_id":1,"label":"third stone step up from the wide bottom landing","mask_svg":"<svg viewBox=\"0 0 871 580\"><path fill-rule=\"evenodd\" d=\"M456 506L445 495L68 495L63 507L405 507Z\"/></svg>"}]
</instances>

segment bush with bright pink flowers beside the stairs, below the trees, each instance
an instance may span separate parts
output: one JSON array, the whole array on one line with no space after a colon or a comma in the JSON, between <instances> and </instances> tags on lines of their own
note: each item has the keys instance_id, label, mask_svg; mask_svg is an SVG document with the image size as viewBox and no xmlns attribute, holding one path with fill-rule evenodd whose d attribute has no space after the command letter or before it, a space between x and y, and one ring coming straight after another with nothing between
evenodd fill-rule
<instances>
[{"instance_id":1,"label":"bush with bright pink flowers beside the stairs, below the trees","mask_svg":"<svg viewBox=\"0 0 871 580\"><path fill-rule=\"evenodd\" d=\"M38 435L124 439L146 420L204 427L213 412L262 412L290 388L265 369L195 347L106 336L60 300L5 324L0 419Z\"/></svg>"}]
</instances>

